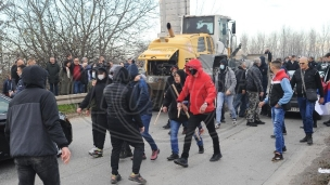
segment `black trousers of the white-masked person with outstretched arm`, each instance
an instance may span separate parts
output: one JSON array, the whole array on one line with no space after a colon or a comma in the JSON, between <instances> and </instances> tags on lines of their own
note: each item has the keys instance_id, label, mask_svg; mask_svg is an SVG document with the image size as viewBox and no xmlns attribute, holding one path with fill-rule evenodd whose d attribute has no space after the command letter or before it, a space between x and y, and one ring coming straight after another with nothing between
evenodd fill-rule
<instances>
[{"instance_id":1,"label":"black trousers of the white-masked person with outstretched arm","mask_svg":"<svg viewBox=\"0 0 330 185\"><path fill-rule=\"evenodd\" d=\"M105 134L107 130L106 114L91 113L93 144L96 147L103 149Z\"/></svg>"}]
</instances>

